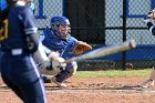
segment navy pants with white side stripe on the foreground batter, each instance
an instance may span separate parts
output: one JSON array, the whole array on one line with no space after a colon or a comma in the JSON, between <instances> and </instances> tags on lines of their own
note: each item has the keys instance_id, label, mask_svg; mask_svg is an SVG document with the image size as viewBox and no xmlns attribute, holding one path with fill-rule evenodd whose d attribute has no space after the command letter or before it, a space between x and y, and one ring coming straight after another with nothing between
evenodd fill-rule
<instances>
[{"instance_id":1,"label":"navy pants with white side stripe on the foreground batter","mask_svg":"<svg viewBox=\"0 0 155 103\"><path fill-rule=\"evenodd\" d=\"M22 96L24 103L46 103L44 84L33 59L29 54L14 56L7 58L7 68L2 64L2 74L7 75L20 92L13 86L10 87Z\"/></svg>"}]
</instances>

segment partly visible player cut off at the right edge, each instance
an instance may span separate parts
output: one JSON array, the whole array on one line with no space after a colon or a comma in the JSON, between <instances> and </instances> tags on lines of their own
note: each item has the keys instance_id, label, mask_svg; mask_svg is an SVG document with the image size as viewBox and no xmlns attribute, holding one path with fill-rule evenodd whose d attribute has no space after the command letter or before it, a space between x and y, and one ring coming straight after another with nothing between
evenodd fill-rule
<instances>
[{"instance_id":1,"label":"partly visible player cut off at the right edge","mask_svg":"<svg viewBox=\"0 0 155 103\"><path fill-rule=\"evenodd\" d=\"M155 35L155 25L153 24L155 20L155 10L152 10L148 16L144 19L144 22L146 23L148 30L153 35ZM142 87L149 87L154 85L154 80L155 80L155 65L152 69L149 79L146 80L141 84Z\"/></svg>"}]
</instances>

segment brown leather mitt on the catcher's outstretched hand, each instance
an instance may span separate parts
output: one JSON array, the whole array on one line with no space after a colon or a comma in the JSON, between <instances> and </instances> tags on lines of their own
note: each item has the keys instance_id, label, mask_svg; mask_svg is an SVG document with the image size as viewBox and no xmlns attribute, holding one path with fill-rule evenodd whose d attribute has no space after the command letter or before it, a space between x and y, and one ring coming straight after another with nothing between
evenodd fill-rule
<instances>
[{"instance_id":1,"label":"brown leather mitt on the catcher's outstretched hand","mask_svg":"<svg viewBox=\"0 0 155 103\"><path fill-rule=\"evenodd\" d=\"M76 45L74 45L72 53L79 55L85 51L91 50L92 47L85 42L79 41Z\"/></svg>"}]
</instances>

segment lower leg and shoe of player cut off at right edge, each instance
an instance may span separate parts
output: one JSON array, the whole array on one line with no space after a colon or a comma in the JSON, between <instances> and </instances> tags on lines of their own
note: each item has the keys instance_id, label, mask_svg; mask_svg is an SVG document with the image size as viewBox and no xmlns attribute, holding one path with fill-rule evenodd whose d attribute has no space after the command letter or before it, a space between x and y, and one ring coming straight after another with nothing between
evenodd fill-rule
<instances>
[{"instance_id":1,"label":"lower leg and shoe of player cut off at right edge","mask_svg":"<svg viewBox=\"0 0 155 103\"><path fill-rule=\"evenodd\" d=\"M141 84L142 87L149 87L154 85L154 81L155 81L155 66L153 66L152 71L151 71L151 75L149 79L146 80L145 82L143 82Z\"/></svg>"}]
</instances>

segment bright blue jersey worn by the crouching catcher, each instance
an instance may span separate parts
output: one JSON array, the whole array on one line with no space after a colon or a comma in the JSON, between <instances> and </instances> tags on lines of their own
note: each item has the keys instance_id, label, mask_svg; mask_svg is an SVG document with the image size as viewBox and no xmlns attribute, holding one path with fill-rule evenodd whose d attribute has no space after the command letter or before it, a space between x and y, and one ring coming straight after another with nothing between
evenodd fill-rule
<instances>
[{"instance_id":1,"label":"bright blue jersey worn by the crouching catcher","mask_svg":"<svg viewBox=\"0 0 155 103\"><path fill-rule=\"evenodd\" d=\"M74 56L72 51L74 45L78 43L78 40L71 37L71 34L68 34L65 39L62 39L56 31L46 27L40 34L40 39L43 45L52 51L58 51L65 60Z\"/></svg>"}]
</instances>

